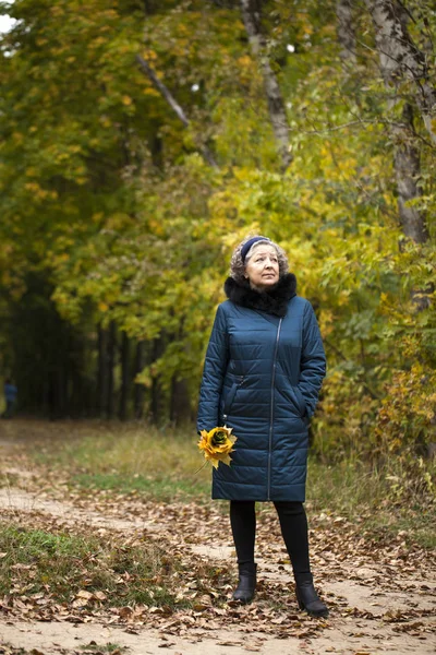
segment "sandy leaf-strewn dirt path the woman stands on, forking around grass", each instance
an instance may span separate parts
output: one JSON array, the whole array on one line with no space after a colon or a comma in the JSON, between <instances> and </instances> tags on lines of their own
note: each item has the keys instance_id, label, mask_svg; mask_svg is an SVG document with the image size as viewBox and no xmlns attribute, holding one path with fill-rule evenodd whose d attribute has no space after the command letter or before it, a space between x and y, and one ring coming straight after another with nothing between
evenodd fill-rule
<instances>
[{"instance_id":1,"label":"sandy leaf-strewn dirt path the woman stands on, forking around grass","mask_svg":"<svg viewBox=\"0 0 436 655\"><path fill-rule=\"evenodd\" d=\"M20 462L13 441L0 442L0 472L9 480L0 488L0 519L20 517L37 525L55 521L99 534L160 535L189 561L217 562L234 570L228 521L214 508L68 493L62 485L35 478ZM162 648L173 655L434 653L436 575L427 553L407 547L401 535L393 544L367 543L355 525L340 516L313 516L311 526L314 573L331 608L326 621L298 611L290 569L283 567L277 517L264 512L257 539L259 599L251 606L230 605L220 612L199 607L196 612L178 610L170 617L150 614L141 621L132 617L131 622L119 624L110 617L85 623L73 619L27 622L3 612L0 604L0 653L22 647L34 648L35 655L70 655L86 652L90 642L97 646L116 643L132 655L157 654ZM289 595L290 611L265 609L265 593ZM95 644L88 646L89 653L97 648Z\"/></svg>"}]
</instances>

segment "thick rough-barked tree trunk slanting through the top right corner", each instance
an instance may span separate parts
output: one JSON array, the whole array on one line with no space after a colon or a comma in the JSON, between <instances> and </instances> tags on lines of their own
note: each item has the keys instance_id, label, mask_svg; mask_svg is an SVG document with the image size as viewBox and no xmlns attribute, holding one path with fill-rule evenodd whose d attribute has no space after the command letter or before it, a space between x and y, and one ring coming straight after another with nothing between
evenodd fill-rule
<instances>
[{"instance_id":1,"label":"thick rough-barked tree trunk slanting through the top right corner","mask_svg":"<svg viewBox=\"0 0 436 655\"><path fill-rule=\"evenodd\" d=\"M365 0L371 12L382 74L387 86L409 80L431 136L436 145L436 88L431 83L429 59L413 43L408 31L408 15L398 0Z\"/></svg>"}]
</instances>

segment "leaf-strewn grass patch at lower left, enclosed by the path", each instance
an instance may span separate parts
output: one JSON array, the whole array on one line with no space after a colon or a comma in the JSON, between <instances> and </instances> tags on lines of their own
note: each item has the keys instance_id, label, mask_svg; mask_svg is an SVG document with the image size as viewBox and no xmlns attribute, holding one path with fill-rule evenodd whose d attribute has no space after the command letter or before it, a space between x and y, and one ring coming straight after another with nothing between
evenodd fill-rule
<instances>
[{"instance_id":1,"label":"leaf-strewn grass patch at lower left, enclosed by the path","mask_svg":"<svg viewBox=\"0 0 436 655\"><path fill-rule=\"evenodd\" d=\"M164 544L131 545L113 535L56 534L9 523L1 525L0 553L0 597L43 594L76 607L181 606L174 581L183 567Z\"/></svg>"}]
</instances>

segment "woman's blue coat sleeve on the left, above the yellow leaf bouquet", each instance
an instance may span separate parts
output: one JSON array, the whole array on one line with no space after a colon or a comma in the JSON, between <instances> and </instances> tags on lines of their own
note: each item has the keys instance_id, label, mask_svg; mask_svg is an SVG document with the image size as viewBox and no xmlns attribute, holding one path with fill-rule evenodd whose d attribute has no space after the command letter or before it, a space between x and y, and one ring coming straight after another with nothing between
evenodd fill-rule
<instances>
[{"instance_id":1,"label":"woman's blue coat sleeve on the left, above the yellow leaf bouquet","mask_svg":"<svg viewBox=\"0 0 436 655\"><path fill-rule=\"evenodd\" d=\"M220 305L206 350L199 390L197 430L211 430L218 426L219 401L229 359L226 313Z\"/></svg>"}]
</instances>

